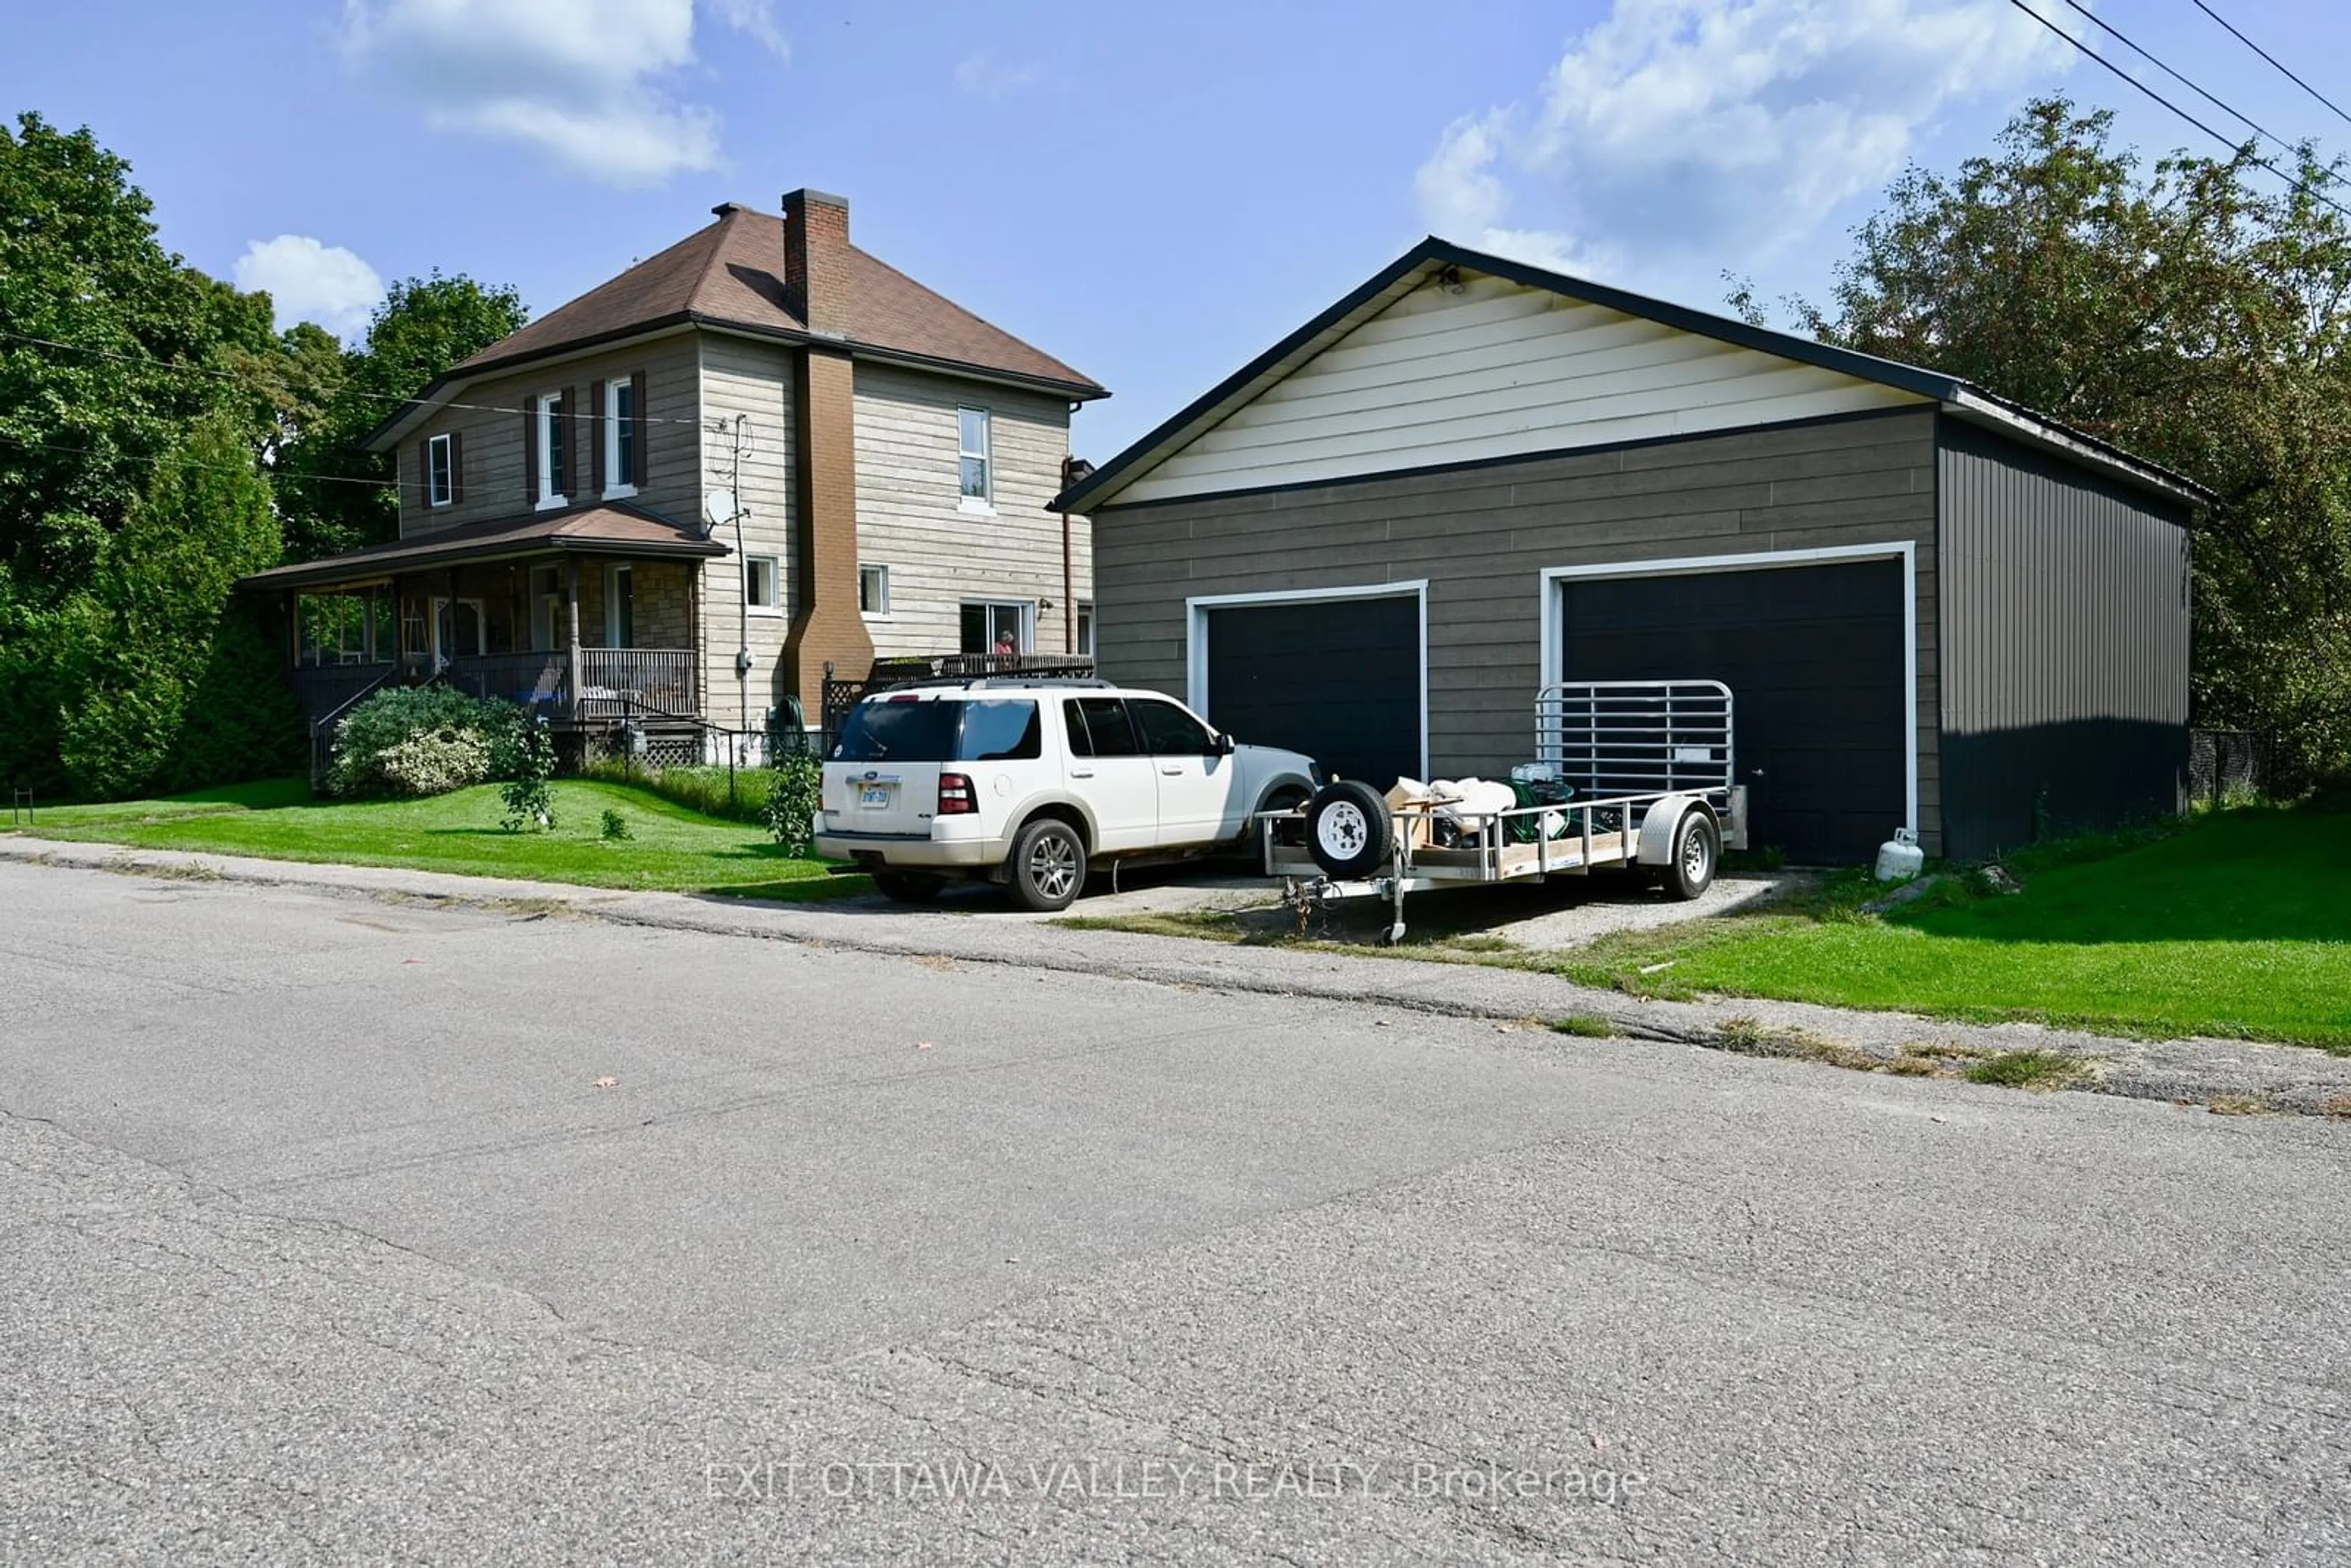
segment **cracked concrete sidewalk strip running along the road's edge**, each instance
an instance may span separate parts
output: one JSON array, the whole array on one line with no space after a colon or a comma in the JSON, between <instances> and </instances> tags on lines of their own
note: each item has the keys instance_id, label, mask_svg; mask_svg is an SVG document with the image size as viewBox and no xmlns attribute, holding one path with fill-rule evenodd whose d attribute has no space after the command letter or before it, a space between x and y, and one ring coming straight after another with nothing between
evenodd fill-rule
<instances>
[{"instance_id":1,"label":"cracked concrete sidewalk strip running along the road's edge","mask_svg":"<svg viewBox=\"0 0 2351 1568\"><path fill-rule=\"evenodd\" d=\"M2219 1112L2351 1117L2351 1058L2241 1039L2116 1039L2029 1023L1963 1025L1909 1013L1855 1013L1796 1001L1643 1001L1556 976L1385 954L1230 947L1180 936L1067 931L1023 917L903 912L879 900L776 905L698 893L625 893L560 882L454 877L369 865L315 865L174 849L0 837L0 860L169 879L289 886L468 907L562 910L658 931L701 931L811 947L966 964L1009 964L1218 992L1312 997L1455 1018L1552 1023L1603 1018L1629 1039L1817 1060L1914 1077L1961 1077L1972 1060L2041 1051L2071 1058L2050 1086L2172 1100ZM1046 936L1051 931L1051 936Z\"/></svg>"}]
</instances>

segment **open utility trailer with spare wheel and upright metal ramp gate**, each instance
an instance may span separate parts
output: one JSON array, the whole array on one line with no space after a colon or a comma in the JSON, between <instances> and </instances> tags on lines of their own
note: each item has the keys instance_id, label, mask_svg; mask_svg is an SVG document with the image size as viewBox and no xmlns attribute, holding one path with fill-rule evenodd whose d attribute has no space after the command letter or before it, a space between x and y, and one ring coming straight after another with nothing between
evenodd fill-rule
<instances>
[{"instance_id":1,"label":"open utility trailer with spare wheel and upright metal ramp gate","mask_svg":"<svg viewBox=\"0 0 2351 1568\"><path fill-rule=\"evenodd\" d=\"M1333 780L1305 806L1258 816L1265 875L1298 912L1385 898L1389 943L1404 938L1404 896L1441 886L1655 867L1669 896L1697 898L1723 846L1747 849L1730 736L1723 682L1556 682L1535 693L1535 762L1514 776L1563 785L1563 799L1392 806L1366 783Z\"/></svg>"}]
</instances>

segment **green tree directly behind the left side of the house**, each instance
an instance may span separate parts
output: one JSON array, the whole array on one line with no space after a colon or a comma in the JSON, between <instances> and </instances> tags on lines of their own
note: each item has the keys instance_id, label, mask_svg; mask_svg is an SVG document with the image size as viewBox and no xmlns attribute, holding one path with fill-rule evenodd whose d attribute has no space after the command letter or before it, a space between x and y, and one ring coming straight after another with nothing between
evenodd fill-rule
<instances>
[{"instance_id":1,"label":"green tree directly behind the left side of the house","mask_svg":"<svg viewBox=\"0 0 2351 1568\"><path fill-rule=\"evenodd\" d=\"M404 277L367 327L367 343L343 355L331 388L301 418L277 463L287 517L287 559L317 559L393 538L400 501L393 461L360 442L458 360L473 357L529 320L510 287L473 277ZM324 388L327 374L308 386Z\"/></svg>"}]
</instances>

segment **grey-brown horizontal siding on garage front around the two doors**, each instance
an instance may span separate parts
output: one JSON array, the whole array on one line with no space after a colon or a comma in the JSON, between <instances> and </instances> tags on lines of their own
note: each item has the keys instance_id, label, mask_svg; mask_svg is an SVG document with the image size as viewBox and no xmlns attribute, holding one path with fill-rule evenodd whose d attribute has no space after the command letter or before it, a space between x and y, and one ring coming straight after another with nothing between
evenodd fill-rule
<instances>
[{"instance_id":1,"label":"grey-brown horizontal siding on garage front around the two doors","mask_svg":"<svg viewBox=\"0 0 2351 1568\"><path fill-rule=\"evenodd\" d=\"M1542 677L1545 567L1909 541L1918 559L1918 818L1935 849L1940 595L1928 409L1110 505L1096 515L1093 541L1103 672L1178 693L1187 597L1427 578L1429 769L1439 776L1523 762Z\"/></svg>"}]
</instances>

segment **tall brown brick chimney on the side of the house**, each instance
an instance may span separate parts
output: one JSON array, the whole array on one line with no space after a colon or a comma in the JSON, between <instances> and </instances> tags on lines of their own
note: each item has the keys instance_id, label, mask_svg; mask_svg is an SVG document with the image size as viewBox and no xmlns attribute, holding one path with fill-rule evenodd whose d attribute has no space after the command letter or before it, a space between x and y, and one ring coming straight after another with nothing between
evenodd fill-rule
<instances>
[{"instance_id":1,"label":"tall brown brick chimney on the side of the house","mask_svg":"<svg viewBox=\"0 0 2351 1568\"><path fill-rule=\"evenodd\" d=\"M818 339L849 336L849 202L823 190L783 197L783 299ZM778 677L809 712L825 665L863 679L875 644L858 611L856 364L846 343L811 343L792 367L792 625Z\"/></svg>"}]
</instances>

